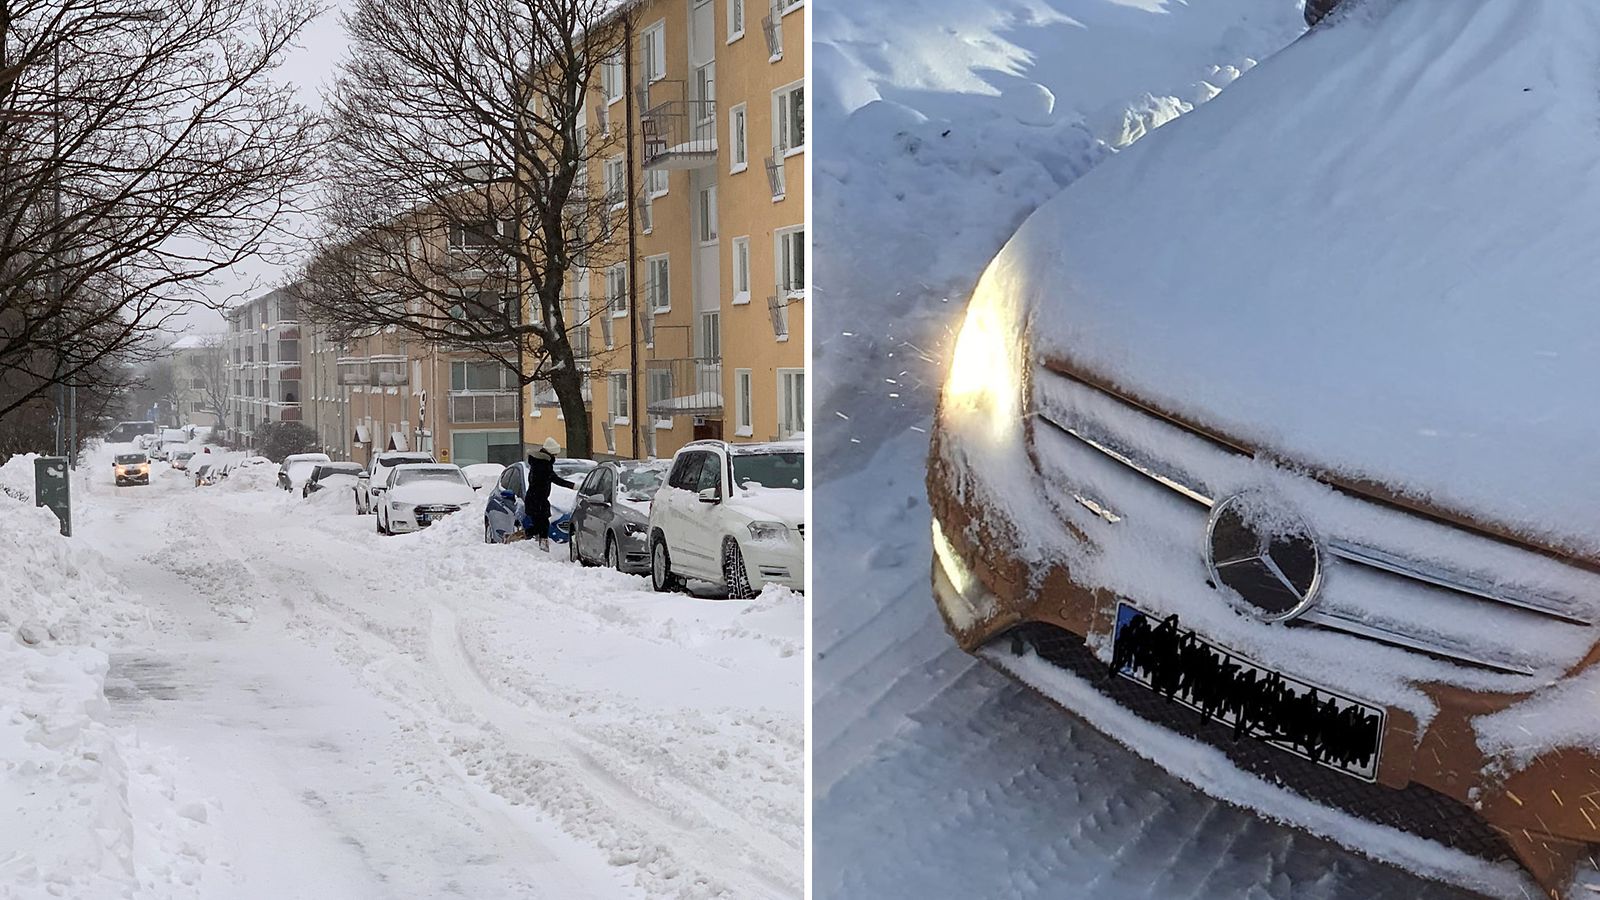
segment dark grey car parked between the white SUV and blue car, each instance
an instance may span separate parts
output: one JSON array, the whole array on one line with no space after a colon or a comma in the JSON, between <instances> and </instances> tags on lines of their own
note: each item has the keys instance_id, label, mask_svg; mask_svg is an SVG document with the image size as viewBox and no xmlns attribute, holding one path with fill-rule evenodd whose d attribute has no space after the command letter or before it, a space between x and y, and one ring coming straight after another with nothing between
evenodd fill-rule
<instances>
[{"instance_id":1,"label":"dark grey car parked between the white SUV and blue car","mask_svg":"<svg viewBox=\"0 0 1600 900\"><path fill-rule=\"evenodd\" d=\"M667 463L618 461L589 469L571 516L571 560L650 572L650 501L666 476Z\"/></svg>"}]
</instances>

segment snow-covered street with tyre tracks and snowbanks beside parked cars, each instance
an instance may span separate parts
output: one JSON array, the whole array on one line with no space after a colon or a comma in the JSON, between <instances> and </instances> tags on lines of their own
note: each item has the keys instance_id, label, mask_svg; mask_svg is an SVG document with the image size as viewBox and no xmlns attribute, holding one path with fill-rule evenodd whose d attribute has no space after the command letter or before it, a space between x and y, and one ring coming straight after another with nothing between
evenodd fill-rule
<instances>
[{"instance_id":1,"label":"snow-covered street with tyre tracks and snowbanks beside parked cars","mask_svg":"<svg viewBox=\"0 0 1600 900\"><path fill-rule=\"evenodd\" d=\"M0 897L802 894L795 594L659 596L470 511L384 538L274 468L155 469L77 485L99 650L0 647L0 757L40 761L0 802L43 798L0 825Z\"/></svg>"}]
</instances>

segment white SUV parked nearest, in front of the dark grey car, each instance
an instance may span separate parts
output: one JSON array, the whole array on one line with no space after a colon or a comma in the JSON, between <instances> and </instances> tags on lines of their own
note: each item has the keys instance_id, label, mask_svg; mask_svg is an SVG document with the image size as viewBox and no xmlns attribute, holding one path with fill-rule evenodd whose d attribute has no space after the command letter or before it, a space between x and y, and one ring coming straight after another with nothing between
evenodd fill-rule
<instances>
[{"instance_id":1,"label":"white SUV parked nearest, in front of the dark grey car","mask_svg":"<svg viewBox=\"0 0 1600 900\"><path fill-rule=\"evenodd\" d=\"M696 440L677 452L650 506L650 580L677 591L685 578L733 597L805 588L805 444Z\"/></svg>"}]
</instances>

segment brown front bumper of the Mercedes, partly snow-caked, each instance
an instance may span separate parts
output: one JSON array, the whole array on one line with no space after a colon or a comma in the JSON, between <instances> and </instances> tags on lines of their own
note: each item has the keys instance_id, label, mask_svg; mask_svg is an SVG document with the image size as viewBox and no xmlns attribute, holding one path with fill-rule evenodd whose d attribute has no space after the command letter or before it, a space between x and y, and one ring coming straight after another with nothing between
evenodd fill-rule
<instances>
[{"instance_id":1,"label":"brown front bumper of the Mercedes, partly snow-caked","mask_svg":"<svg viewBox=\"0 0 1600 900\"><path fill-rule=\"evenodd\" d=\"M1266 783L1264 791L1240 799L1216 790L1216 783L1226 778L1186 778L1221 799L1261 809L1358 852L1390 858L1440 879L1461 881L1467 876L1450 868L1429 868L1419 862L1427 860L1427 854L1390 855L1394 842L1381 836L1352 842L1349 830L1336 833L1325 815L1307 814L1306 801L1323 810L1338 810L1357 823L1405 831L1482 863L1515 862L1554 895L1587 895L1573 890L1578 890L1574 878L1600 850L1600 780L1595 775L1600 757L1579 749L1550 751L1512 770L1506 761L1477 746L1474 719L1501 711L1522 697L1418 684L1429 692L1438 713L1422 727L1411 713L1387 708L1382 754L1373 783L1254 738L1235 740L1227 725L1110 674L1107 658L1118 602L1149 607L1152 597L1120 597L1075 580L1067 564L1051 556L1042 560L1037 551L1022 559L1016 548L1038 548L1040 541L1019 540L1022 527L1013 520L1006 504L990 500L974 480L978 472L965 464L960 450L952 450L955 442L957 436L934 429L928 498L934 528L933 593L946 628L963 650L998 660L1013 674L1006 660L1037 657L1091 687L1094 703L1109 701L1142 722L1210 746L1238 772ZM1037 471L1029 476L1040 477ZM1061 520L1056 525L1059 533L1048 540L1077 544L1080 551L1094 546L1082 530ZM1090 701L1078 690L1045 693L1078 713ZM1152 741L1139 738L1144 725L1126 727L1128 721L1125 716L1104 719L1110 724L1091 719L1091 724L1158 764L1174 770L1181 767L1181 761L1158 759L1160 754L1147 746ZM1155 743L1165 746L1166 741ZM1262 796L1275 799L1262 801ZM1482 882L1474 886L1483 887Z\"/></svg>"}]
</instances>

